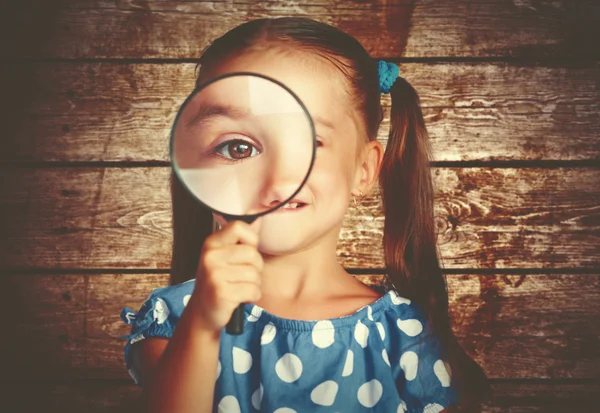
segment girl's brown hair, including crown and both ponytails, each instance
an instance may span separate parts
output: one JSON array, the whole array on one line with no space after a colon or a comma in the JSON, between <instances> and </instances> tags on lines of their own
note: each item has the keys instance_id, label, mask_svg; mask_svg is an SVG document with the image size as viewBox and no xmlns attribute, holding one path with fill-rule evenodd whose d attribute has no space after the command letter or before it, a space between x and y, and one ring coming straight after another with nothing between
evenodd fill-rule
<instances>
[{"instance_id":1,"label":"girl's brown hair, including crown and both ponytails","mask_svg":"<svg viewBox=\"0 0 600 413\"><path fill-rule=\"evenodd\" d=\"M369 140L377 139L383 118L377 61L352 36L308 18L257 19L230 30L202 53L197 83L225 59L266 47L308 51L337 67L364 125L361 133ZM400 295L423 310L428 327L439 337L442 358L448 360L452 385L460 395L454 409L476 411L480 401L490 397L491 389L485 373L462 349L450 325L434 227L431 148L419 97L403 78L396 80L390 94L390 134L379 177L388 277ZM213 221L210 211L191 199L174 174L171 189L173 285L195 277L202 243L212 232Z\"/></svg>"}]
</instances>

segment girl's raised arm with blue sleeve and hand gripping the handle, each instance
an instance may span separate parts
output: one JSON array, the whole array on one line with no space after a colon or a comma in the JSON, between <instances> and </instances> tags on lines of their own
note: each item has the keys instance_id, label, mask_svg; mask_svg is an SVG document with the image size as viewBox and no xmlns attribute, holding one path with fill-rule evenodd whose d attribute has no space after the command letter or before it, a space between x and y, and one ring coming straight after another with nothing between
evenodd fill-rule
<instances>
[{"instance_id":1,"label":"girl's raised arm with blue sleeve and hand gripping the handle","mask_svg":"<svg viewBox=\"0 0 600 413\"><path fill-rule=\"evenodd\" d=\"M132 324L125 360L144 412L212 412L221 331L240 303L261 295L257 243L248 224L228 223L204 241L195 284L156 289L137 313L121 311Z\"/></svg>"}]
</instances>

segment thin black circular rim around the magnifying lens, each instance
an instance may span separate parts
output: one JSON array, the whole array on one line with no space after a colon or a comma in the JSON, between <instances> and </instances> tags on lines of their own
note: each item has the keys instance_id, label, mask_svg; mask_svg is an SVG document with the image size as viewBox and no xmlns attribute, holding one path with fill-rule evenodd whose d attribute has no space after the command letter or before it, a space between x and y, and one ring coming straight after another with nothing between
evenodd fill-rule
<instances>
[{"instance_id":1,"label":"thin black circular rim around the magnifying lens","mask_svg":"<svg viewBox=\"0 0 600 413\"><path fill-rule=\"evenodd\" d=\"M173 155L173 146L174 146L173 141L175 140L175 129L176 129L177 124L179 122L179 118L181 117L181 114L183 113L183 110L188 105L189 101L194 96L196 96L197 93L199 93L201 90L203 90L204 88L206 88L210 84L212 84L212 83L214 83L216 81L219 81L221 79L224 79L224 78L235 77L235 76L255 76L255 77L259 77L259 78L265 79L265 80L269 80L269 81L275 83L276 85L281 86L290 95L292 95L294 97L294 99L296 99L296 101L300 104L300 107L302 107L302 109L304 110L304 113L307 115L308 121L310 123L310 130L312 132L312 140L313 140L312 156L311 156L311 159L310 159L310 166L308 167L308 171L306 172L306 176L302 180L302 183L298 186L298 189L296 189L296 191L285 200L285 202L280 202L279 204L277 204L273 208L267 209L266 211L259 212L258 214L250 214L250 215L227 214L227 213L224 213L222 211L219 211L219 210L211 207L210 205L207 205L198 196L196 196L187 187L187 185L185 185L185 182L183 181L183 179L181 178L181 175L179 174L178 168L175 168L174 155ZM190 95L181 104L181 107L179 108L179 111L177 112L177 116L175 117L175 121L173 122L173 126L171 126L171 134L170 134L170 139L169 139L169 157L171 158L171 165L173 166L173 170L175 171L175 175L177 176L177 178L179 179L179 181L182 183L182 186L185 188L186 191L188 191L188 193L190 195L192 195L192 197L194 197L195 199L197 199L202 205L204 205L206 208L208 208L211 212L214 212L214 213L216 213L218 215L222 215L228 221L230 221L230 220L242 220L242 221L252 220L253 221L253 220L255 220L258 217L261 217L263 215L266 215L266 214L268 214L270 212L275 211L278 208L281 208L289 200L293 199L298 194L298 192L300 192L300 190L302 189L302 187L304 187L304 184L306 183L306 181L308 180L308 177L310 176L310 173L312 171L313 165L315 163L316 152L317 152L317 133L315 131L315 124L313 122L312 116L310 116L310 112L308 111L308 109L304 105L304 102L302 102L302 100L289 87L287 87L286 85L284 85L280 81L275 80L272 77L269 77L269 76L266 76L266 75L262 75L260 73L254 73L254 72L230 72L230 73L225 73L223 75L220 75L220 76L217 76L215 78L212 78L212 79L210 79L210 80L202 83L199 86L196 86L194 88L194 90L192 91L192 93L190 93Z\"/></svg>"}]
</instances>

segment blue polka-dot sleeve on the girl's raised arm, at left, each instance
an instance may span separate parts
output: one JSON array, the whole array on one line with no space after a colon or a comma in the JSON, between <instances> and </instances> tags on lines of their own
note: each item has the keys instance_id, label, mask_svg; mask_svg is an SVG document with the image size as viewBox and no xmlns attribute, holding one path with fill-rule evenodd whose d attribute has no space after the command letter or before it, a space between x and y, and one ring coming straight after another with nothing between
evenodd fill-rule
<instances>
[{"instance_id":1,"label":"blue polka-dot sleeve on the girl's raised arm, at left","mask_svg":"<svg viewBox=\"0 0 600 413\"><path fill-rule=\"evenodd\" d=\"M139 387L142 387L141 375L132 345L148 337L171 338L191 297L194 284L195 280L190 280L174 286L157 288L150 293L139 311L135 312L128 307L121 310L121 320L131 325L130 334L121 336L127 340L124 349L125 366Z\"/></svg>"}]
</instances>

